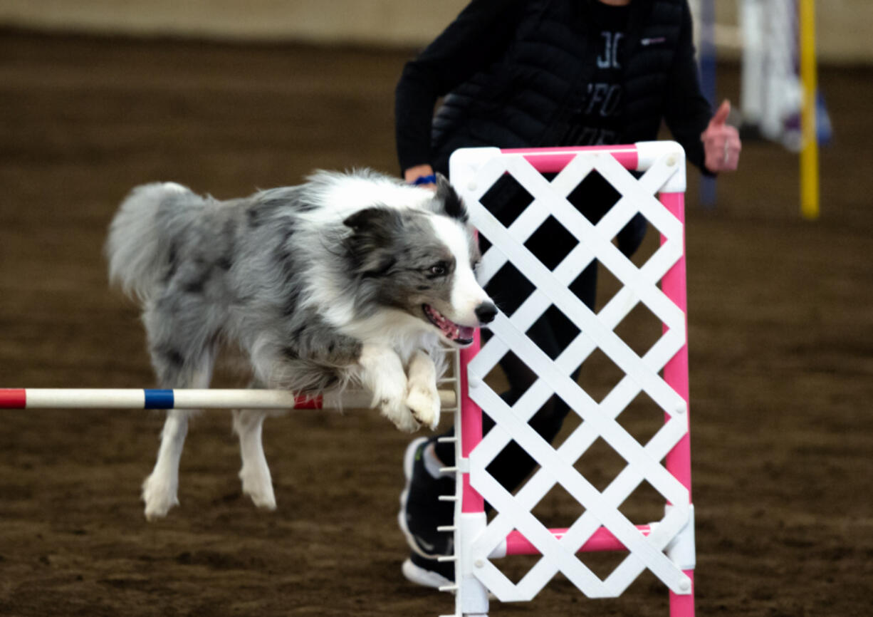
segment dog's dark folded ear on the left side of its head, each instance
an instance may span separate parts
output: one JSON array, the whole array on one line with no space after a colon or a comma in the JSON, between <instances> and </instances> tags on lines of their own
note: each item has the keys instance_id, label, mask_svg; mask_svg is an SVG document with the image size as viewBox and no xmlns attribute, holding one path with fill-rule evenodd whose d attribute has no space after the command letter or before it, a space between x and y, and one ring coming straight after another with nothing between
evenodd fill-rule
<instances>
[{"instance_id":1,"label":"dog's dark folded ear on the left side of its head","mask_svg":"<svg viewBox=\"0 0 873 617\"><path fill-rule=\"evenodd\" d=\"M357 211L343 221L350 227L346 239L347 257L354 272L381 276L396 263L392 248L402 237L401 213L393 208L374 206Z\"/></svg>"}]
</instances>

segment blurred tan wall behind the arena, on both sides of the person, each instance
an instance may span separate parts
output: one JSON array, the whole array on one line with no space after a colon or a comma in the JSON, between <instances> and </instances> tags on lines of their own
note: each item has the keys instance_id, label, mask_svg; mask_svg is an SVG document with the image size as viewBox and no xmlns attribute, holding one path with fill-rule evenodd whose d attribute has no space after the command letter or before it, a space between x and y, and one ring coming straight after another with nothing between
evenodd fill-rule
<instances>
[{"instance_id":1,"label":"blurred tan wall behind the arena, on both sides of the person","mask_svg":"<svg viewBox=\"0 0 873 617\"><path fill-rule=\"evenodd\" d=\"M428 42L469 0L0 0L0 24L55 31L297 40L326 44ZM819 58L873 62L873 2L818 0ZM736 3L716 3L736 23ZM732 55L727 50L729 55Z\"/></svg>"}]
</instances>

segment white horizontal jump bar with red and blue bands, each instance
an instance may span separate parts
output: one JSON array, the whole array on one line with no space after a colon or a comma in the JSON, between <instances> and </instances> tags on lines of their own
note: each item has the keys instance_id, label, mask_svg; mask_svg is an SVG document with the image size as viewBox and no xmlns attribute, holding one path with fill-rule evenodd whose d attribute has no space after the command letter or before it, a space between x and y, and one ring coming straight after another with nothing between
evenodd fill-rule
<instances>
[{"instance_id":1,"label":"white horizontal jump bar with red and blue bands","mask_svg":"<svg viewBox=\"0 0 873 617\"><path fill-rule=\"evenodd\" d=\"M440 390L443 408L457 405ZM0 409L361 409L369 392L306 397L286 390L141 390L137 388L0 388Z\"/></svg>"}]
</instances>

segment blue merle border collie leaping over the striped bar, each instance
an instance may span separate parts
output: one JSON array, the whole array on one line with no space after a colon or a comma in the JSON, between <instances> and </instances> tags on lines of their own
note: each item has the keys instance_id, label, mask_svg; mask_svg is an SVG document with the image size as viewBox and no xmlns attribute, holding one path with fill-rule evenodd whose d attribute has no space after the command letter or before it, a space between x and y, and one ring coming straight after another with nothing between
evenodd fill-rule
<instances>
[{"instance_id":1,"label":"blue merle border collie leaping over the striped bar","mask_svg":"<svg viewBox=\"0 0 873 617\"><path fill-rule=\"evenodd\" d=\"M107 240L110 279L141 302L163 388L209 387L220 347L253 385L293 392L360 385L402 431L436 427L443 350L471 343L494 304L476 281L475 234L444 177L436 191L374 171L218 201L173 183L137 187ZM149 520L178 503L189 411L169 410L142 486ZM274 509L261 444L268 412L233 412L243 491Z\"/></svg>"}]
</instances>

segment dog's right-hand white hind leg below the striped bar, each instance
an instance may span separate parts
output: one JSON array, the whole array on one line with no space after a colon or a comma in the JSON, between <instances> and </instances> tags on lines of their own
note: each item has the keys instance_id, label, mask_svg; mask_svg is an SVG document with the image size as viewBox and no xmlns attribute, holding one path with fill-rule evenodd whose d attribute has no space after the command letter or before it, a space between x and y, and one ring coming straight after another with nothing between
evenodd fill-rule
<instances>
[{"instance_id":1,"label":"dog's right-hand white hind leg below the striped bar","mask_svg":"<svg viewBox=\"0 0 873 617\"><path fill-rule=\"evenodd\" d=\"M243 493L250 496L258 508L276 510L272 477L261 440L264 419L268 414L262 409L235 409L233 430L239 435L239 453L243 459L243 468L239 470Z\"/></svg>"}]
</instances>

